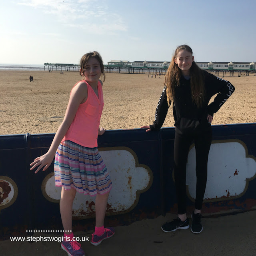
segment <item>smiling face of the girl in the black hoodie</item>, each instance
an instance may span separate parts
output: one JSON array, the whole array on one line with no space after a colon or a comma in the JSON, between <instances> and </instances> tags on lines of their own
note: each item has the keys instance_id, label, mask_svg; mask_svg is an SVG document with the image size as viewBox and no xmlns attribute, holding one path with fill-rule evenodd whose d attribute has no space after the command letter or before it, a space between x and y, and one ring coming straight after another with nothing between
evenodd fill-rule
<instances>
[{"instance_id":1,"label":"smiling face of the girl in the black hoodie","mask_svg":"<svg viewBox=\"0 0 256 256\"><path fill-rule=\"evenodd\" d=\"M178 65L182 74L185 76L189 75L189 69L191 68L193 61L194 56L186 50L180 50L174 59L174 62Z\"/></svg>"}]
</instances>

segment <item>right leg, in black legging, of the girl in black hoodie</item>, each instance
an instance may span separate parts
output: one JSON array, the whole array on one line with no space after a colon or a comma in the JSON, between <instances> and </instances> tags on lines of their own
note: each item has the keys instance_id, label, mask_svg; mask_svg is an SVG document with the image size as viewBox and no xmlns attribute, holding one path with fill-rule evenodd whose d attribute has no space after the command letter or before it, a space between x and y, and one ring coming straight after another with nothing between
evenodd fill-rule
<instances>
[{"instance_id":1,"label":"right leg, in black legging, of the girl in black hoodie","mask_svg":"<svg viewBox=\"0 0 256 256\"><path fill-rule=\"evenodd\" d=\"M201 213L207 182L208 154L212 142L212 129L207 129L195 138L196 147L196 203L195 214Z\"/></svg>"}]
</instances>

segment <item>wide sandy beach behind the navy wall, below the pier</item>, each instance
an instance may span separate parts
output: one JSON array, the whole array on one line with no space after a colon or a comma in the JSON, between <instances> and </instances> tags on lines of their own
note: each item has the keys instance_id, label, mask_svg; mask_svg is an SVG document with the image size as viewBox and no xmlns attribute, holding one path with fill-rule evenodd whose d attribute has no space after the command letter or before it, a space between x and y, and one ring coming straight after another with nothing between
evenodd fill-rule
<instances>
[{"instance_id":1,"label":"wide sandy beach behind the navy wall, below the pier","mask_svg":"<svg viewBox=\"0 0 256 256\"><path fill-rule=\"evenodd\" d=\"M30 82L30 74L34 82ZM56 132L62 122L70 90L78 72L0 71L0 134ZM236 88L214 114L212 124L256 122L256 76L226 76ZM164 76L106 74L104 110L100 126L107 130L133 129L152 124ZM163 127L174 125L172 109Z\"/></svg>"}]
</instances>

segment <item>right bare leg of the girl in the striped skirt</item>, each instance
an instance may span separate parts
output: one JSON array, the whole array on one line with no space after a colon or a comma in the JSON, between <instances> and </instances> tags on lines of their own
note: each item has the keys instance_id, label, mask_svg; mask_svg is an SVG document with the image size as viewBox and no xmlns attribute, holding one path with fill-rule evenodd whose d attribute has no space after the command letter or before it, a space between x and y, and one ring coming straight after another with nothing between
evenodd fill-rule
<instances>
[{"instance_id":1,"label":"right bare leg of the girl in the striped skirt","mask_svg":"<svg viewBox=\"0 0 256 256\"><path fill-rule=\"evenodd\" d=\"M96 228L104 226L104 218L108 203L109 192L103 195L97 194L95 200Z\"/></svg>"}]
</instances>

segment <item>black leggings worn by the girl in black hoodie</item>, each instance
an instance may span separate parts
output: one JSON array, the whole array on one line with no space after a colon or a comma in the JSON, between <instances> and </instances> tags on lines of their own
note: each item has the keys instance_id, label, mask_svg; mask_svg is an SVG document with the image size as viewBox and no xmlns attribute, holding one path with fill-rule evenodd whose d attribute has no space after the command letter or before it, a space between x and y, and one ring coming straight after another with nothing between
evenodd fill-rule
<instances>
[{"instance_id":1,"label":"black leggings worn by the girl in black hoodie","mask_svg":"<svg viewBox=\"0 0 256 256\"><path fill-rule=\"evenodd\" d=\"M186 164L188 150L194 140L196 147L196 202L195 208L201 210L207 181L208 154L212 142L210 124L200 125L196 132L184 135L177 128L174 138L174 178L178 201L178 214L186 213Z\"/></svg>"}]
</instances>

